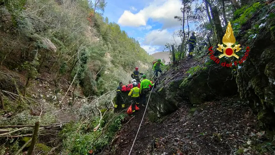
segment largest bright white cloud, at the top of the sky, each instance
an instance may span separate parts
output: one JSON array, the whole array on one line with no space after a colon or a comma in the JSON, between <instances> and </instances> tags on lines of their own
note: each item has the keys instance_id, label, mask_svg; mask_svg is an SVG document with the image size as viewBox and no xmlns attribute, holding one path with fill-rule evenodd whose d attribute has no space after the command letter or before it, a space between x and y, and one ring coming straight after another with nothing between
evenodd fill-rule
<instances>
[{"instance_id":1,"label":"largest bright white cloud, at the top of the sky","mask_svg":"<svg viewBox=\"0 0 275 155\"><path fill-rule=\"evenodd\" d=\"M181 16L182 4L179 0L154 0L149 6L133 14L128 10L118 20L118 24L123 26L145 26L149 18L163 23L163 28L180 26L180 22L174 16Z\"/></svg>"}]
</instances>

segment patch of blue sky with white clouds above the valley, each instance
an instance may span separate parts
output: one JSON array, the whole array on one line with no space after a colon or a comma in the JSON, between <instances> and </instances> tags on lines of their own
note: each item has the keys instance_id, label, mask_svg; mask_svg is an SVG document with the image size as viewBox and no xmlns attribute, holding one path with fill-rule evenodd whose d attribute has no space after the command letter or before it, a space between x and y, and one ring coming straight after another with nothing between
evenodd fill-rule
<instances>
[{"instance_id":1,"label":"patch of blue sky with white clouds above the valley","mask_svg":"<svg viewBox=\"0 0 275 155\"><path fill-rule=\"evenodd\" d=\"M149 54L161 52L166 42L180 42L173 33L182 28L179 0L106 0L104 17L119 24Z\"/></svg>"}]
</instances>

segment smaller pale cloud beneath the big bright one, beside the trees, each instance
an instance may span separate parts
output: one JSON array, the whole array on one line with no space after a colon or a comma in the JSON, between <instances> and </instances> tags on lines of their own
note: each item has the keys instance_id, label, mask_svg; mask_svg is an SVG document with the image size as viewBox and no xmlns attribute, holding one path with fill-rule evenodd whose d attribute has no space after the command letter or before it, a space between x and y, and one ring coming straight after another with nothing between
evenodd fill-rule
<instances>
[{"instance_id":1,"label":"smaller pale cloud beneath the big bright one, beside the trees","mask_svg":"<svg viewBox=\"0 0 275 155\"><path fill-rule=\"evenodd\" d=\"M145 35L143 44L151 46L164 46L167 42L174 43L174 40L177 42L177 44L181 42L180 37L178 37L176 34L174 34L173 37L173 32L170 33L167 31L167 29L157 29L152 30Z\"/></svg>"}]
</instances>

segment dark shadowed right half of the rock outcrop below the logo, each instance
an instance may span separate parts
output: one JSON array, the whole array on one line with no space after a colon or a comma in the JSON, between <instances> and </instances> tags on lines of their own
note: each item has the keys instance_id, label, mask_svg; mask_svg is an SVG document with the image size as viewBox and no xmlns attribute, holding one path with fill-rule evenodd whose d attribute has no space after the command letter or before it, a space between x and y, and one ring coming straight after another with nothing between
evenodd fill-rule
<instances>
[{"instance_id":1,"label":"dark shadowed right half of the rock outcrop below the logo","mask_svg":"<svg viewBox=\"0 0 275 155\"><path fill-rule=\"evenodd\" d=\"M201 104L220 97L233 96L237 93L237 84L230 68L219 67L201 70L192 78L186 78L181 84L183 95L191 104Z\"/></svg>"}]
</instances>

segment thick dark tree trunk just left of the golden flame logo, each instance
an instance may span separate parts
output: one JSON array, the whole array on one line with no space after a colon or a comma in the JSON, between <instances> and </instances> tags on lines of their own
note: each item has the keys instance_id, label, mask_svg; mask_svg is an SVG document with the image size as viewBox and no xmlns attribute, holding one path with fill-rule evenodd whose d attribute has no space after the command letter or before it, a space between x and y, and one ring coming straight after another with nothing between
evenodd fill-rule
<instances>
[{"instance_id":1,"label":"thick dark tree trunk just left of the golden flame logo","mask_svg":"<svg viewBox=\"0 0 275 155\"><path fill-rule=\"evenodd\" d=\"M211 15L212 15L212 21L214 24L214 31L215 31L217 42L218 44L221 44L222 37L223 37L223 30L222 30L218 9L216 6L212 8Z\"/></svg>"}]
</instances>

